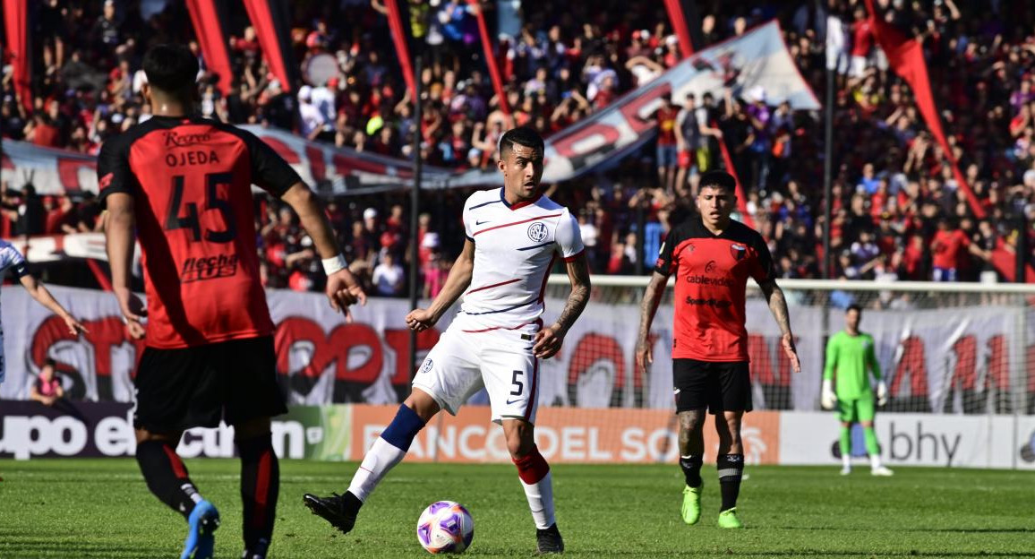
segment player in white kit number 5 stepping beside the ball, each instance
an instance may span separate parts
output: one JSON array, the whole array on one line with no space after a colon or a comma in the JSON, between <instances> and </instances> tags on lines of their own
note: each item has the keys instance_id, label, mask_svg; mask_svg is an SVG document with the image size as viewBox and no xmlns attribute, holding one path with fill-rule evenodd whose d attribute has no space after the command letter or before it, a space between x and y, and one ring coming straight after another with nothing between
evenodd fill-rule
<instances>
[{"instance_id":1,"label":"player in white kit number 5 stepping beside the ball","mask_svg":"<svg viewBox=\"0 0 1035 559\"><path fill-rule=\"evenodd\" d=\"M537 550L564 551L554 519L550 466L533 438L539 359L561 348L586 307L590 278L575 217L539 187L542 157L542 138L531 128L503 135L498 163L503 187L467 199L464 249L432 304L410 312L406 322L417 331L431 328L463 295L461 312L427 354L414 390L366 451L349 490L342 496L303 497L314 513L342 532L352 529L359 507L424 424L439 410L455 414L484 387L532 510ZM543 291L556 258L567 265L571 292L557 322L543 326Z\"/></svg>"}]
</instances>

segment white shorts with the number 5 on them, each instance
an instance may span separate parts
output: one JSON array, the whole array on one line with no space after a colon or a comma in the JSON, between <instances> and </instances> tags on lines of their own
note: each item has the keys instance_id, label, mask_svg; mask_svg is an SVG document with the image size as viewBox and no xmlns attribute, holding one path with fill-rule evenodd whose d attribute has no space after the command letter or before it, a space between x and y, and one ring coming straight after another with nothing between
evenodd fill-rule
<instances>
[{"instance_id":1,"label":"white shorts with the number 5 on them","mask_svg":"<svg viewBox=\"0 0 1035 559\"><path fill-rule=\"evenodd\" d=\"M513 329L479 327L460 314L427 353L413 387L427 392L452 415L485 388L493 421L535 423L539 360L532 345L539 328L539 321Z\"/></svg>"}]
</instances>

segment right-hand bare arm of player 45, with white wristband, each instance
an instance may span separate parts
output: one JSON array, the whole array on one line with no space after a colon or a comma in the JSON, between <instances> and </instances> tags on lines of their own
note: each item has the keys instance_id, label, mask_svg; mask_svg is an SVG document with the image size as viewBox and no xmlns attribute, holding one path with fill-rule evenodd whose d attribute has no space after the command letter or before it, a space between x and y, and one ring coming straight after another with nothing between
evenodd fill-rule
<instances>
[{"instance_id":1,"label":"right-hand bare arm of player 45, with white wristband","mask_svg":"<svg viewBox=\"0 0 1035 559\"><path fill-rule=\"evenodd\" d=\"M347 320L352 320L349 305L355 302L366 304L366 295L359 282L349 271L345 257L334 238L334 230L323 211L317 195L304 182L296 182L280 200L287 202L298 214L302 228L309 234L314 246L323 262L327 273L326 294L330 305L335 311L344 311Z\"/></svg>"}]
</instances>

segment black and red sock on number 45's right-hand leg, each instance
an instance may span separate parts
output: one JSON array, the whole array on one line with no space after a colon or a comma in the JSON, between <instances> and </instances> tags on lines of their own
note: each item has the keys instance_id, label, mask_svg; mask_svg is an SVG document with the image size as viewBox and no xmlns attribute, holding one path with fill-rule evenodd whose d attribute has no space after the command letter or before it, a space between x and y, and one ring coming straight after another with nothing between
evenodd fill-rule
<instances>
[{"instance_id":1,"label":"black and red sock on number 45's right-hand leg","mask_svg":"<svg viewBox=\"0 0 1035 559\"><path fill-rule=\"evenodd\" d=\"M280 492L280 465L270 435L237 441L241 454L241 501L244 503L244 547L268 546L273 535L276 498ZM265 540L263 543L262 540Z\"/></svg>"}]
</instances>

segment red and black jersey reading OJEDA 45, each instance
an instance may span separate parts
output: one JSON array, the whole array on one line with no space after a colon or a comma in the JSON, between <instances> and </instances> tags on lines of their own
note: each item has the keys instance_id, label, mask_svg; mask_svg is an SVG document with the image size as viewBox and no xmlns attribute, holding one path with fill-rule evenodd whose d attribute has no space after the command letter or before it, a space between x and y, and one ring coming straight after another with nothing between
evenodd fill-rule
<instances>
[{"instance_id":1,"label":"red and black jersey reading OJEDA 45","mask_svg":"<svg viewBox=\"0 0 1035 559\"><path fill-rule=\"evenodd\" d=\"M183 348L273 332L259 275L252 184L301 182L255 135L201 117L152 117L105 142L101 203L134 197L146 343Z\"/></svg>"}]
</instances>

